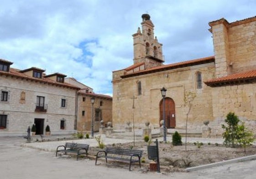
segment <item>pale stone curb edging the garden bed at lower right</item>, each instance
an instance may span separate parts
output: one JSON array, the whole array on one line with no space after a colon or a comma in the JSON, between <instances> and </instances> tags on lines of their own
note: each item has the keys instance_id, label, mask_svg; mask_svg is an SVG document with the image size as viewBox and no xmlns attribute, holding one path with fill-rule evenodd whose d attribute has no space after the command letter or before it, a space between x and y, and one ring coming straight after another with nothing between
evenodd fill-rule
<instances>
[{"instance_id":1,"label":"pale stone curb edging the garden bed at lower right","mask_svg":"<svg viewBox=\"0 0 256 179\"><path fill-rule=\"evenodd\" d=\"M244 162L244 161L255 160L255 159L256 159L256 155L250 155L250 156L246 156L246 157L240 157L237 159L225 160L223 162L216 162L216 163L201 165L201 166L197 166L197 167L190 167L190 168L185 169L185 171L191 172L191 171L196 171L196 170L201 170L201 169L208 169L211 167L217 167L217 166L221 166L221 165L225 165L225 164L232 164L235 162Z\"/></svg>"}]
</instances>

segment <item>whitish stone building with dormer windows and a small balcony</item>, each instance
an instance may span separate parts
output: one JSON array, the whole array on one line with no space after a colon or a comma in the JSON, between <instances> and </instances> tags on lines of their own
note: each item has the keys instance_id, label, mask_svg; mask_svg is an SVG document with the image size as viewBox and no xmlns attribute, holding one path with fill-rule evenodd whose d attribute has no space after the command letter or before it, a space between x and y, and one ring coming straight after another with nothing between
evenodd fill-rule
<instances>
[{"instance_id":1,"label":"whitish stone building with dormer windows and a small balcony","mask_svg":"<svg viewBox=\"0 0 256 179\"><path fill-rule=\"evenodd\" d=\"M45 75L44 70L10 68L0 59L0 136L26 135L35 123L36 134L74 133L76 97L80 89L64 82L66 75Z\"/></svg>"}]
</instances>

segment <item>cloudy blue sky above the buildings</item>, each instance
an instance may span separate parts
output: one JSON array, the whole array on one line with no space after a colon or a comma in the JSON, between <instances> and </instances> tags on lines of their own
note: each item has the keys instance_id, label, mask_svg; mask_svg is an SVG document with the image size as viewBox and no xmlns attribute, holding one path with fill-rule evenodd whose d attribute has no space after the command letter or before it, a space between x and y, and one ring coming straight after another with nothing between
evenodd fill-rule
<instances>
[{"instance_id":1,"label":"cloudy blue sky above the buildings","mask_svg":"<svg viewBox=\"0 0 256 179\"><path fill-rule=\"evenodd\" d=\"M112 72L133 64L142 14L170 64L213 56L208 23L253 17L255 9L255 0L0 0L0 58L112 96Z\"/></svg>"}]
</instances>

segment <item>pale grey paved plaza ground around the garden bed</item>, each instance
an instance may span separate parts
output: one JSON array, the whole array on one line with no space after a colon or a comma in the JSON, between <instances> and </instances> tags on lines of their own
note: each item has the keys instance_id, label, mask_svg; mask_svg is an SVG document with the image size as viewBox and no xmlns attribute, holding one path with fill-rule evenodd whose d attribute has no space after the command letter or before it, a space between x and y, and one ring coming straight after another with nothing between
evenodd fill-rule
<instances>
[{"instance_id":1,"label":"pale grey paved plaza ground around the garden bed","mask_svg":"<svg viewBox=\"0 0 256 179\"><path fill-rule=\"evenodd\" d=\"M102 136L104 143L126 143L132 140L111 139ZM83 141L86 140L86 141ZM159 138L161 141L162 138ZM169 136L167 141L171 140ZM68 142L78 142L67 140ZM58 145L67 141L26 143L21 137L0 138L0 173L1 179L254 179L256 160L220 165L184 173L147 172L136 167L130 172L127 169L115 168L101 162L95 166L94 160L55 157ZM222 139L188 138L188 142L204 141L222 143ZM96 146L95 139L80 139L79 143ZM127 165L128 166L128 165Z\"/></svg>"}]
</instances>

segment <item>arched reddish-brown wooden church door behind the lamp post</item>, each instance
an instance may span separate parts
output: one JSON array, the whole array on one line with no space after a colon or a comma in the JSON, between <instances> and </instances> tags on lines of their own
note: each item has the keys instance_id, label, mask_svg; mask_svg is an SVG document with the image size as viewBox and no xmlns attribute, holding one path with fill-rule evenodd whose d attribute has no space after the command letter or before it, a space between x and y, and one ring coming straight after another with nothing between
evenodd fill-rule
<instances>
[{"instance_id":1,"label":"arched reddish-brown wooden church door behind the lamp post","mask_svg":"<svg viewBox=\"0 0 256 179\"><path fill-rule=\"evenodd\" d=\"M175 119L175 103L172 98L165 98L165 125L167 128L175 128L176 127L176 119ZM159 122L163 119L163 100L160 102L160 119Z\"/></svg>"}]
</instances>

